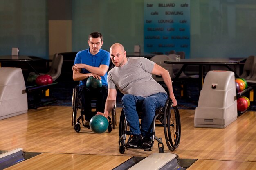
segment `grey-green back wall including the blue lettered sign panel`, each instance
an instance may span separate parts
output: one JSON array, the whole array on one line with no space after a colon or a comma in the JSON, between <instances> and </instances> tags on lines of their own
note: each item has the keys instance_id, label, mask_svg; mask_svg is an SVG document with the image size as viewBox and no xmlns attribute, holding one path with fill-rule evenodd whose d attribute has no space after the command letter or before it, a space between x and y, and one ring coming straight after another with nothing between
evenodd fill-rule
<instances>
[{"instance_id":1,"label":"grey-green back wall including the blue lettered sign panel","mask_svg":"<svg viewBox=\"0 0 256 170\"><path fill-rule=\"evenodd\" d=\"M47 0L0 0L0 55L19 47L47 59L48 20ZM186 58L248 57L256 54L255 21L255 0L72 0L72 51L88 48L88 35L99 31L106 50L119 42L127 52L140 45Z\"/></svg>"}]
</instances>

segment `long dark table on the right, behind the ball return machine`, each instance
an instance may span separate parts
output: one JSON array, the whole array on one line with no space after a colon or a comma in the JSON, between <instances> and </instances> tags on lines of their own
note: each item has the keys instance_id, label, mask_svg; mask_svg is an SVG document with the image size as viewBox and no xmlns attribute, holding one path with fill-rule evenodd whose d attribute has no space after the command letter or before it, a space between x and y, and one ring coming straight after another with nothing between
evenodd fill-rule
<instances>
[{"instance_id":1,"label":"long dark table on the right, behind the ball return machine","mask_svg":"<svg viewBox=\"0 0 256 170\"><path fill-rule=\"evenodd\" d=\"M188 65L198 65L198 75L199 75L199 83L198 83L198 90L199 93L202 90L202 85L204 83L204 72L203 66L204 65L222 65L228 68L230 71L234 72L235 77L239 77L236 74L236 70L233 70L229 65L237 65L239 61L230 60L228 58L193 58L193 59L180 59L180 61L176 60L166 60L164 61L166 64L183 64L182 68L179 70L177 75L174 79L178 79L180 74L185 70L186 66Z\"/></svg>"}]
</instances>

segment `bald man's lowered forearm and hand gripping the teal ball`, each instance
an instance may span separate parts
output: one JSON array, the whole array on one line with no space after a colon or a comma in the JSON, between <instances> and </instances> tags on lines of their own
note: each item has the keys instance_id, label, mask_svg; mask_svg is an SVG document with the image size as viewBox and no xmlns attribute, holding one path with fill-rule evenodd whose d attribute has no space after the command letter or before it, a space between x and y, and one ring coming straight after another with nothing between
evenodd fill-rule
<instances>
[{"instance_id":1,"label":"bald man's lowered forearm and hand gripping the teal ball","mask_svg":"<svg viewBox=\"0 0 256 170\"><path fill-rule=\"evenodd\" d=\"M97 115L103 115L106 118L108 118L109 113L115 106L116 98L117 98L117 90L116 89L108 89L108 97L105 102L105 111L104 111L104 113L97 112Z\"/></svg>"}]
</instances>

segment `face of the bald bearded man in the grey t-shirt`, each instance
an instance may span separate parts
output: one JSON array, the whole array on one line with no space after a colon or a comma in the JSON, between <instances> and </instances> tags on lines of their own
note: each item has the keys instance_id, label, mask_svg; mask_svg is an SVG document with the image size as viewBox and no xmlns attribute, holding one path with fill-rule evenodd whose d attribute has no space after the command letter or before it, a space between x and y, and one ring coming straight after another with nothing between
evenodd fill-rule
<instances>
[{"instance_id":1,"label":"face of the bald bearded man in the grey t-shirt","mask_svg":"<svg viewBox=\"0 0 256 170\"><path fill-rule=\"evenodd\" d=\"M110 49L110 57L116 67L121 67L124 65L124 61L126 59L125 56L126 51L123 51L119 46L115 46L115 48Z\"/></svg>"}]
</instances>

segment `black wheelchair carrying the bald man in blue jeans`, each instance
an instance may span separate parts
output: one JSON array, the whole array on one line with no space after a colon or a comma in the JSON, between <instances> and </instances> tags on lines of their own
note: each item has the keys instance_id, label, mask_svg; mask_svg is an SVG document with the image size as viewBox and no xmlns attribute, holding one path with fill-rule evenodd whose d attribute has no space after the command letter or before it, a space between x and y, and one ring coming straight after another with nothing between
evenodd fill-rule
<instances>
[{"instance_id":1,"label":"black wheelchair carrying the bald man in blue jeans","mask_svg":"<svg viewBox=\"0 0 256 170\"><path fill-rule=\"evenodd\" d=\"M137 107L139 118L141 119L141 111ZM140 124L141 126L141 124ZM164 107L156 109L155 116L152 122L152 138L151 138L151 147L150 148L132 148L132 149L144 149L144 151L151 151L154 145L154 140L158 142L159 153L164 153L164 144L162 138L158 138L155 135L155 127L164 127L164 136L166 144L169 150L174 151L178 148L180 144L180 135L181 135L181 124L180 124L180 113L177 106L173 107L171 99L168 99ZM123 154L126 149L131 149L126 147L126 142L128 136L130 136L128 122L126 121L124 111L121 111L120 122L119 122L119 152Z\"/></svg>"}]
</instances>

